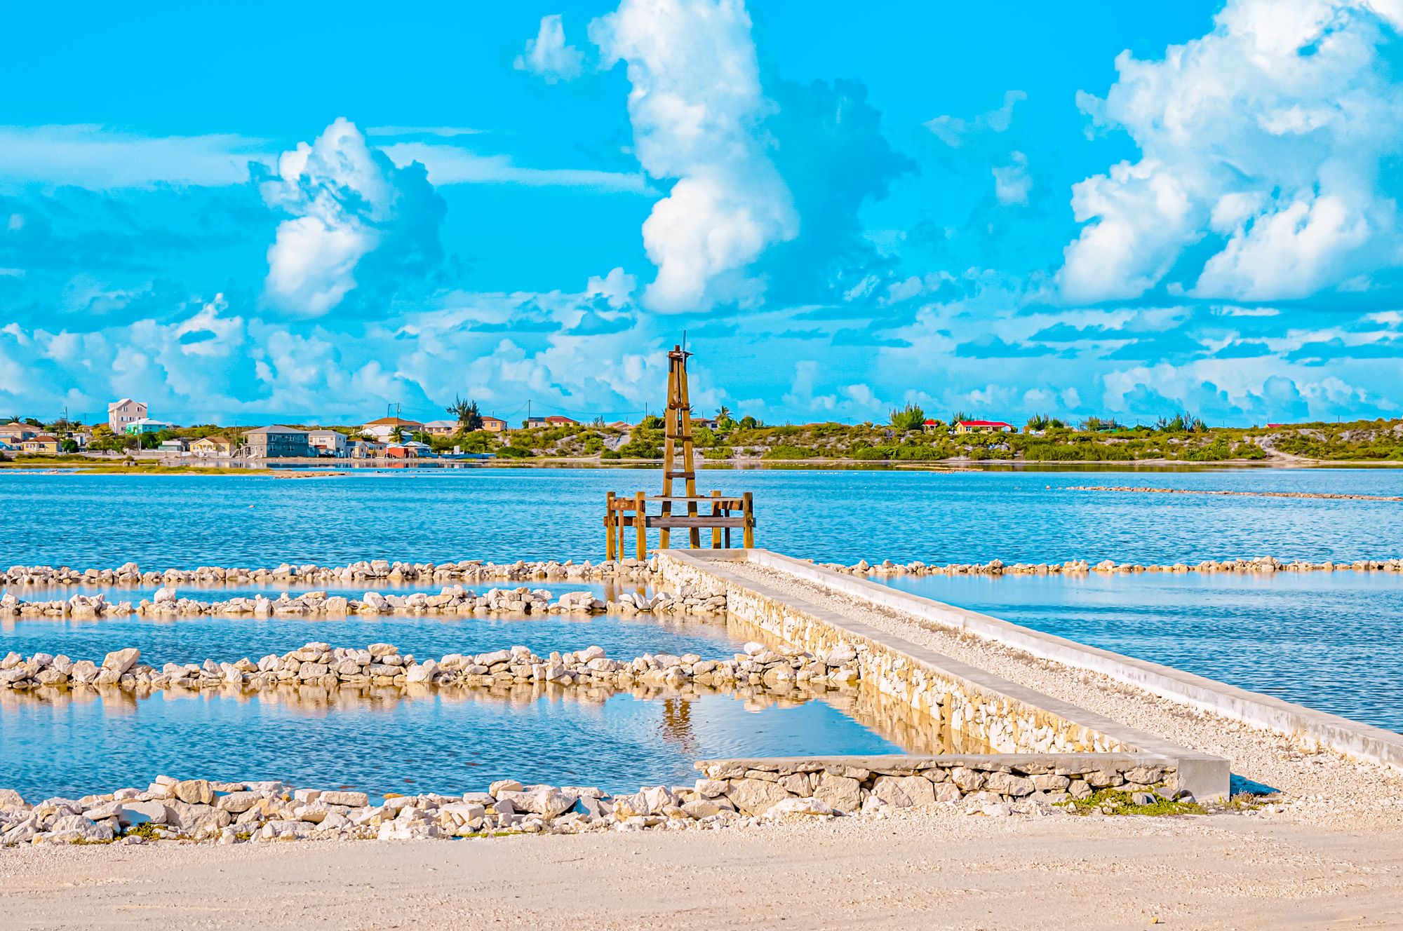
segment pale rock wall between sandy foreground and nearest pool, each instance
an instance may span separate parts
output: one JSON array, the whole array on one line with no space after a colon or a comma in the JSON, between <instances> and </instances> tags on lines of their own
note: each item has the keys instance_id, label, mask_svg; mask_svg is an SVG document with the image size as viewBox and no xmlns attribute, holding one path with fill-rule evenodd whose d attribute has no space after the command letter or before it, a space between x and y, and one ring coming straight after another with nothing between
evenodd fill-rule
<instances>
[{"instance_id":1,"label":"pale rock wall between sandy foreground and nearest pool","mask_svg":"<svg viewBox=\"0 0 1403 931\"><path fill-rule=\"evenodd\" d=\"M968 813L1058 813L1097 787L1143 799L1181 798L1173 773L1134 760L1059 763L998 757L861 760L716 760L693 785L610 795L589 787L492 782L487 792L386 795L293 788L276 781L220 782L159 775L142 788L28 803L0 789L0 845L236 844L290 840L419 840L499 833L577 834L717 830L895 808L961 806Z\"/></svg>"}]
</instances>

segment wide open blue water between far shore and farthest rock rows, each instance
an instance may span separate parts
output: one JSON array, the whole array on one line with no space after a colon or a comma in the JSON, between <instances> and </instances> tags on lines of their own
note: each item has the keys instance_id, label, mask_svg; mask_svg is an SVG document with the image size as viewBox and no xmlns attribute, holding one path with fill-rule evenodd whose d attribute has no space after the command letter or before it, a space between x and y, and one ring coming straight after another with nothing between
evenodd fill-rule
<instances>
[{"instance_id":1,"label":"wide open blue water between far shore and farthest rock rows","mask_svg":"<svg viewBox=\"0 0 1403 931\"><path fill-rule=\"evenodd\" d=\"M1072 485L1403 495L1399 470L932 473L707 470L704 491L755 492L756 544L815 559L1069 558L1197 562L1403 551L1403 503L1076 492ZM464 468L267 475L0 473L0 561L145 568L389 558L603 557L606 491L657 470Z\"/></svg>"}]
</instances>

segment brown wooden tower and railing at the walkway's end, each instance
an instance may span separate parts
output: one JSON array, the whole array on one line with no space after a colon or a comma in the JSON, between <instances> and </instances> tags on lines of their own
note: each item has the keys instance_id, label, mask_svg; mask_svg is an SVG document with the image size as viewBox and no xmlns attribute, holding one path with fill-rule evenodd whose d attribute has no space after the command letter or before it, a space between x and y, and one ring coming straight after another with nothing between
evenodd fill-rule
<instances>
[{"instance_id":1,"label":"brown wooden tower and railing at the walkway's end","mask_svg":"<svg viewBox=\"0 0 1403 931\"><path fill-rule=\"evenodd\" d=\"M627 547L624 529L634 530L634 551L638 559L648 558L648 529L658 530L658 545L669 548L673 530L686 530L693 550L702 547L702 530L711 530L711 548L731 547L731 530L739 529L746 550L755 547L755 501L751 492L739 498L723 498L721 492L697 495L696 449L692 443L692 402L687 393L687 358L692 353L675 345L668 353L668 409L662 430L662 494L652 498L641 491L631 498L609 492L605 505L605 552L609 561L624 558ZM682 461L678 461L678 444ZM680 465L680 467L679 467ZM683 494L675 495L673 481L685 482ZM658 513L648 513L648 502L658 502ZM702 505L710 513L700 513ZM673 505L686 513L673 513Z\"/></svg>"}]
</instances>

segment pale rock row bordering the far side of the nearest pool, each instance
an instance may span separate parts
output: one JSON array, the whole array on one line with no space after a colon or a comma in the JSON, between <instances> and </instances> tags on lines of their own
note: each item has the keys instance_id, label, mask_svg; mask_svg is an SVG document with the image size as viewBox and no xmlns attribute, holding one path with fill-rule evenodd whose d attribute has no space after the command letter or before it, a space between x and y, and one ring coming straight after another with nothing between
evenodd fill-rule
<instances>
[{"instance_id":1,"label":"pale rock row bordering the far side of the nearest pool","mask_svg":"<svg viewBox=\"0 0 1403 931\"><path fill-rule=\"evenodd\" d=\"M797 648L770 649L746 644L732 659L702 659L696 653L672 656L645 653L631 660L615 660L599 646L540 658L526 646L488 653L449 653L418 660L400 653L393 644L370 644L365 649L307 644L282 656L269 653L258 662L166 663L154 669L140 663L142 652L128 648L108 653L102 663L72 660L63 655L35 653L28 659L11 652L0 659L0 688L116 686L119 688L276 688L285 684L310 686L443 686L491 687L504 683L558 683L629 688L634 684L679 687L759 686L793 688L845 687L857 683L861 666L857 649L842 644L821 656Z\"/></svg>"}]
</instances>

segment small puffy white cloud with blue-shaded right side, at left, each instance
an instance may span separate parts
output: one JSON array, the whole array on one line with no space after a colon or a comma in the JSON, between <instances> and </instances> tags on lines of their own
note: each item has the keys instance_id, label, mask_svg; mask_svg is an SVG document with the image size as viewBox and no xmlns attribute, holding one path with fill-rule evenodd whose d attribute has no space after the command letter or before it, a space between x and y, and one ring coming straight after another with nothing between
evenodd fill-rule
<instances>
[{"instance_id":1,"label":"small puffy white cloud with blue-shaded right side, at left","mask_svg":"<svg viewBox=\"0 0 1403 931\"><path fill-rule=\"evenodd\" d=\"M368 297L393 293L441 258L446 208L424 165L397 168L347 119L282 153L262 195L292 215L268 248L265 282L272 303L290 314L320 317L358 285Z\"/></svg>"}]
</instances>

